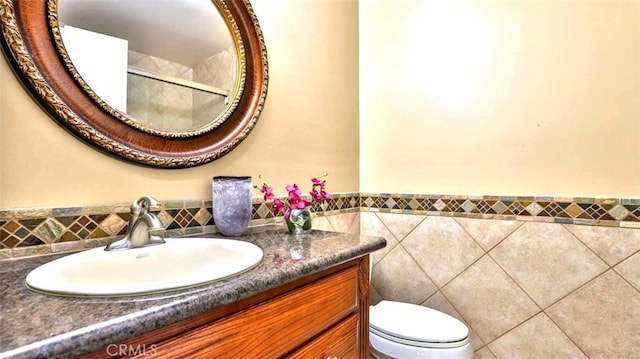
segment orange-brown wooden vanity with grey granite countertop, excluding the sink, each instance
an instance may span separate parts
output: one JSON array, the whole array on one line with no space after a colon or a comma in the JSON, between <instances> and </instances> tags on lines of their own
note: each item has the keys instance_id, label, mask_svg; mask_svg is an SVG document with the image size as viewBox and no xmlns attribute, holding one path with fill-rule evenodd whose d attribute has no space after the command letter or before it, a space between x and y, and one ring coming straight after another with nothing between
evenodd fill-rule
<instances>
[{"instance_id":1,"label":"orange-brown wooden vanity with grey granite countertop, excluding the sink","mask_svg":"<svg viewBox=\"0 0 640 359\"><path fill-rule=\"evenodd\" d=\"M260 265L211 284L131 297L25 288L31 269L60 255L0 261L0 358L368 357L369 253L384 239L315 230L292 236L279 226L236 239L262 248Z\"/></svg>"}]
</instances>

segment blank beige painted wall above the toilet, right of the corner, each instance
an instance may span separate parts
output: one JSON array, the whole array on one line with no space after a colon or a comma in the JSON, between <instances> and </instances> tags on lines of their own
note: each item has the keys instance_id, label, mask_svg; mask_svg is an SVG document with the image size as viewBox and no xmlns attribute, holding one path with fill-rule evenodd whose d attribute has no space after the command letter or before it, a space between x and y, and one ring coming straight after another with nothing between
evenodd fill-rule
<instances>
[{"instance_id":1,"label":"blank beige painted wall above the toilet, right of the corner","mask_svg":"<svg viewBox=\"0 0 640 359\"><path fill-rule=\"evenodd\" d=\"M360 190L640 197L640 2L360 2Z\"/></svg>"}]
</instances>

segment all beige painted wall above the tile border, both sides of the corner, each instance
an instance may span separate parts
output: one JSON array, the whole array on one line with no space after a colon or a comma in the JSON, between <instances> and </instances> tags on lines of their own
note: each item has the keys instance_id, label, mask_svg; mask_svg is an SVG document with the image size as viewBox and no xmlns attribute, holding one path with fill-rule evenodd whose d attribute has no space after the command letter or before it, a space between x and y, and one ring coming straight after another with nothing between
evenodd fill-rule
<instances>
[{"instance_id":1,"label":"all beige painted wall above the tile border, both sides of the corner","mask_svg":"<svg viewBox=\"0 0 640 359\"><path fill-rule=\"evenodd\" d=\"M207 198L215 175L281 188L325 170L336 192L640 197L638 2L252 4L269 53L264 112L197 168L94 150L0 61L0 208Z\"/></svg>"}]
</instances>

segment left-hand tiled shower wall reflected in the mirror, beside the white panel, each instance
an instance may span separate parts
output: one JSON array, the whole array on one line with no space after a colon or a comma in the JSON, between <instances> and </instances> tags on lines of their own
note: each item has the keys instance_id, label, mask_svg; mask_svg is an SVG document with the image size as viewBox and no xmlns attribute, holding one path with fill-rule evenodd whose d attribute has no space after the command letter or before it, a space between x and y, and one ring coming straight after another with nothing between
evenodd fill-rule
<instances>
[{"instance_id":1,"label":"left-hand tiled shower wall reflected in the mirror, beside the white panel","mask_svg":"<svg viewBox=\"0 0 640 359\"><path fill-rule=\"evenodd\" d=\"M193 69L188 66L132 50L129 65L154 74L193 78ZM127 82L129 116L155 129L192 128L193 90L137 75L130 75Z\"/></svg>"}]
</instances>

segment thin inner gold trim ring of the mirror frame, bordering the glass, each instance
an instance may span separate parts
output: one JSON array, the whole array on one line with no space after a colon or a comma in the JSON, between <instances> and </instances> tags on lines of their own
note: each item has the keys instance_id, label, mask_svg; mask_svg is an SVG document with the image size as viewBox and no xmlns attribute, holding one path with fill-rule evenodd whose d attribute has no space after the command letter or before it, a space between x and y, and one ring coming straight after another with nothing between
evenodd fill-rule
<instances>
[{"instance_id":1,"label":"thin inner gold trim ring of the mirror frame, bordering the glass","mask_svg":"<svg viewBox=\"0 0 640 359\"><path fill-rule=\"evenodd\" d=\"M231 92L232 101L229 102L225 106L224 111L212 122L208 125L203 126L197 130L192 131L184 131L184 132L170 132L163 131L154 128L150 128L145 126L140 121L137 121L127 114L122 113L111 107L108 103L104 102L100 96L98 96L95 91L86 83L86 81L82 78L76 67L73 65L69 54L67 53L67 49L64 47L64 42L62 39L62 35L60 32L60 21L58 20L58 0L48 0L47 1L47 15L49 18L49 26L51 27L51 32L53 36L53 40L55 42L56 48L60 53L60 57L64 61L67 66L67 70L71 73L73 78L78 82L78 84L82 87L82 89L95 101L95 103L100 106L103 110L107 111L111 116L114 116L118 120L126 123L127 125L134 127L140 131L144 131L146 133L162 136L162 137L173 137L173 138L185 138L191 136L199 136L203 133L209 132L220 126L229 116L233 113L233 111L238 106L238 102L240 102L240 96L242 96L242 91L244 89L244 84L246 82L246 54L244 50L244 45L242 43L242 37L240 36L240 31L238 30L238 25L236 21L233 19L229 8L224 2L213 1L213 6L220 11L220 15L224 18L225 23L227 24L229 30L231 31L231 37L233 39L234 45L236 47L236 55L238 61L236 62L238 73L236 73L236 80L234 81L235 86L233 91Z\"/></svg>"}]
</instances>

